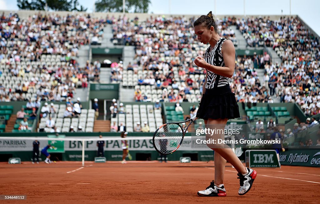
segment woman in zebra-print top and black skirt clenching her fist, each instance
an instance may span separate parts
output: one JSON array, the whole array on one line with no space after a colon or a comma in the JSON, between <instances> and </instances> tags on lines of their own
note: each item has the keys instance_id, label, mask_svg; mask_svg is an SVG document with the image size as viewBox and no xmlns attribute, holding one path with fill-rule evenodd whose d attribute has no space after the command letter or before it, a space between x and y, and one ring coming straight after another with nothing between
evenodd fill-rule
<instances>
[{"instance_id":1,"label":"woman in zebra-print top and black skirt clenching her fist","mask_svg":"<svg viewBox=\"0 0 320 204\"><path fill-rule=\"evenodd\" d=\"M203 95L196 117L204 119L206 128L224 129L228 119L240 118L239 106L235 94L230 89L230 78L235 70L235 47L230 40L220 37L217 24L209 12L194 22L194 31L198 40L203 44L210 44L205 51L204 58L197 56L195 64L207 70L203 85ZM224 135L206 135L206 140L224 140ZM231 148L223 144L207 144L215 151L214 180L199 196L226 196L223 177L226 161L238 171L240 179L239 195L247 193L255 179L257 172L244 167Z\"/></svg>"}]
</instances>

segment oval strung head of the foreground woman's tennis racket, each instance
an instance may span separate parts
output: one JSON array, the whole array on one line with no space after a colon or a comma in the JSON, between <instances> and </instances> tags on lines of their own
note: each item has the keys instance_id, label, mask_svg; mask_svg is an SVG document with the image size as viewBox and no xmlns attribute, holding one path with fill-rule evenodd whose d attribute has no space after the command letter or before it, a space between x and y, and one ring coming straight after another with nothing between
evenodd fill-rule
<instances>
[{"instance_id":1,"label":"oval strung head of the foreground woman's tennis racket","mask_svg":"<svg viewBox=\"0 0 320 204\"><path fill-rule=\"evenodd\" d=\"M182 129L177 124L165 124L156 132L156 149L163 154L170 154L175 151L183 138Z\"/></svg>"}]
</instances>

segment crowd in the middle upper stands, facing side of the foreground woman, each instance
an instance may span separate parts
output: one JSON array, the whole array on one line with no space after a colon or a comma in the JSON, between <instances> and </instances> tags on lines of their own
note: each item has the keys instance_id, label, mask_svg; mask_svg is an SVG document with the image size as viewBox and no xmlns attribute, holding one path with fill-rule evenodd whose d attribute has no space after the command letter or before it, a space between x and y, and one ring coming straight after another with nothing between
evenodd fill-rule
<instances>
[{"instance_id":1,"label":"crowd in the middle upper stands, facing side of the foreground woman","mask_svg":"<svg viewBox=\"0 0 320 204\"><path fill-rule=\"evenodd\" d=\"M151 16L146 21L139 21L138 18L129 20L126 16L113 19L113 39L124 40L124 45L135 45L136 56L125 68L115 64L111 70L111 80L121 80L123 69L131 70L140 76L137 79L138 85L152 85L166 90L161 101L167 99L170 102L182 102L190 90L201 92L204 80L199 75L205 72L195 66L192 57L203 56L205 48L193 34L194 21L195 18L187 20L184 16ZM218 27L222 36L236 42L234 31L228 27L229 23L228 19L219 20ZM142 75L140 71L147 73ZM135 101L148 102L151 98L137 90Z\"/></svg>"}]
</instances>

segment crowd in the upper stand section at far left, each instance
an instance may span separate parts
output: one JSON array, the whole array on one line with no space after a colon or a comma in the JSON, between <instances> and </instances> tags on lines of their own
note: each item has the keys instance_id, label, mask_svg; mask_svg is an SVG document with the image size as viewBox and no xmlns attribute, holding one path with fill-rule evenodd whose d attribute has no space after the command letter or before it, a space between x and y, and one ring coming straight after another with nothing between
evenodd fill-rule
<instances>
[{"instance_id":1,"label":"crowd in the upper stand section at far left","mask_svg":"<svg viewBox=\"0 0 320 204\"><path fill-rule=\"evenodd\" d=\"M20 19L17 13L2 14L0 101L33 100L36 96L48 102L62 101L73 97L76 87L98 81L96 62L87 61L80 67L76 58L80 46L90 44L91 36L103 35L105 23L105 19L83 14L36 13L27 19ZM35 92L31 97L25 95Z\"/></svg>"}]
</instances>

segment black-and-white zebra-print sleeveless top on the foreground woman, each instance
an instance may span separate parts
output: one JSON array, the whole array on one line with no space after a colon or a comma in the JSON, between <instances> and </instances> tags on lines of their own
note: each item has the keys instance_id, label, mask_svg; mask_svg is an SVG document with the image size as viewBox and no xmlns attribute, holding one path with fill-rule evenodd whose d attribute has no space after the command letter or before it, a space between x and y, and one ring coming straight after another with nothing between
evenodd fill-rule
<instances>
[{"instance_id":1,"label":"black-and-white zebra-print sleeveless top on the foreground woman","mask_svg":"<svg viewBox=\"0 0 320 204\"><path fill-rule=\"evenodd\" d=\"M223 42L226 40L227 40L226 38L220 37L220 39L218 40L218 42L216 43L216 45L211 51L209 46L208 49L205 51L204 60L214 66L224 67L225 64L224 64L221 49L222 49ZM207 83L205 84L206 89L214 89L216 87L230 84L230 78L228 77L217 75L214 72L209 70L207 70L207 73L208 73Z\"/></svg>"}]
</instances>

